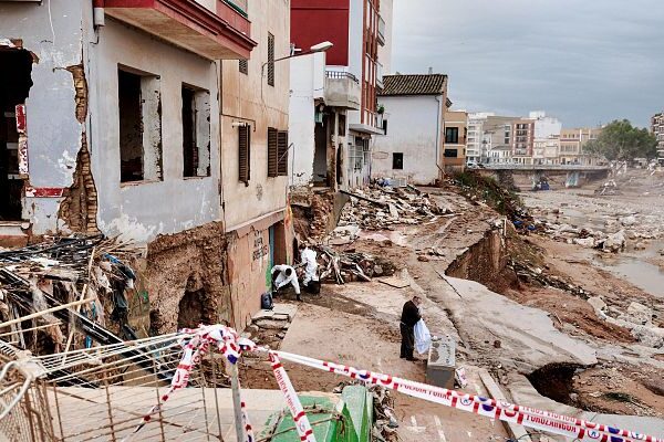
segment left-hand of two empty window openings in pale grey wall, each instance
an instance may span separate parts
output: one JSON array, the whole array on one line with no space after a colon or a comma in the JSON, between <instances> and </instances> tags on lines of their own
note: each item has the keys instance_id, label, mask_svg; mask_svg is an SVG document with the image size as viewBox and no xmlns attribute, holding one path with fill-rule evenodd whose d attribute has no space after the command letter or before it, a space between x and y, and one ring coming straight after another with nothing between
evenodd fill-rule
<instances>
[{"instance_id":1,"label":"left-hand of two empty window openings in pale grey wall","mask_svg":"<svg viewBox=\"0 0 664 442\"><path fill-rule=\"evenodd\" d=\"M159 77L117 70L120 181L160 180L162 94Z\"/></svg>"}]
</instances>

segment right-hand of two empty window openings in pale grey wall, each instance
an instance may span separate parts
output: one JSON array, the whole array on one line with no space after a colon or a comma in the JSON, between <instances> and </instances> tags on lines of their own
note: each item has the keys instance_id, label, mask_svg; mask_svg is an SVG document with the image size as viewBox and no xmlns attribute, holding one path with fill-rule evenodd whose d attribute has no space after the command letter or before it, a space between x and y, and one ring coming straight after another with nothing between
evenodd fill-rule
<instances>
[{"instance_id":1,"label":"right-hand of two empty window openings in pale grey wall","mask_svg":"<svg viewBox=\"0 0 664 442\"><path fill-rule=\"evenodd\" d=\"M183 177L210 176L210 93L183 85Z\"/></svg>"}]
</instances>

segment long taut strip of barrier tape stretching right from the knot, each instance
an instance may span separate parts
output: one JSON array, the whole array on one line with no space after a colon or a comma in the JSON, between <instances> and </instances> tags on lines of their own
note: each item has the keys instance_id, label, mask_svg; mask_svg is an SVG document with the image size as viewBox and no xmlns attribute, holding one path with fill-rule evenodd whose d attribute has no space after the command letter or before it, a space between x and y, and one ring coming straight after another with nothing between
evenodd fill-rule
<instances>
[{"instance_id":1,"label":"long taut strip of barrier tape stretching right from the knot","mask_svg":"<svg viewBox=\"0 0 664 442\"><path fill-rule=\"evenodd\" d=\"M352 379L363 380L369 383L400 391L414 398L429 402L473 412L490 419L517 423L536 430L564 435L578 441L590 442L664 442L664 439L645 435L633 431L621 430L600 423L588 422L581 419L542 411L528 407L520 407L508 402L496 401L479 396L447 390L422 382L396 378L388 375L359 370L354 367L326 362L304 356L284 351L274 351L281 359L291 362L346 376Z\"/></svg>"}]
</instances>

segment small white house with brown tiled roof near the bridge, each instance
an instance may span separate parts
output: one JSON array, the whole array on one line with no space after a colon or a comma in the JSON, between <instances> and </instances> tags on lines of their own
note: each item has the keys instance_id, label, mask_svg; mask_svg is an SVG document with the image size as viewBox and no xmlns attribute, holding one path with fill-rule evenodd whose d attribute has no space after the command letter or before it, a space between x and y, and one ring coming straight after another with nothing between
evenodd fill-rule
<instances>
[{"instance_id":1,"label":"small white house with brown tiled roof near the bridge","mask_svg":"<svg viewBox=\"0 0 664 442\"><path fill-rule=\"evenodd\" d=\"M386 75L384 83L378 99L385 106L386 130L376 137L372 177L433 185L443 177L446 159L445 113L452 106L447 75ZM463 126L456 126L459 137ZM458 145L463 139L450 140Z\"/></svg>"}]
</instances>

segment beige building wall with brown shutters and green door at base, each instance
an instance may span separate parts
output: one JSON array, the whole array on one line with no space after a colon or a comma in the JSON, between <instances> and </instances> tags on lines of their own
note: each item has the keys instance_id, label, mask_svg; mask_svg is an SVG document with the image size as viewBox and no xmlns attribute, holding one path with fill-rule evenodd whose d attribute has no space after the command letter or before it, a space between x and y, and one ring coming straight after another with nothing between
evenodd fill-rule
<instances>
[{"instance_id":1,"label":"beige building wall with brown shutters and green door at base","mask_svg":"<svg viewBox=\"0 0 664 442\"><path fill-rule=\"evenodd\" d=\"M292 225L287 210L288 173L268 177L268 127L288 130L290 64L274 63L268 84L268 33L274 35L274 59L290 55L290 2L250 1L251 38L258 46L248 74L238 61L221 63L221 204L228 239L228 273L232 322L243 328L260 309L270 288L270 270L292 260ZM251 127L250 179L239 180L239 128Z\"/></svg>"}]
</instances>

